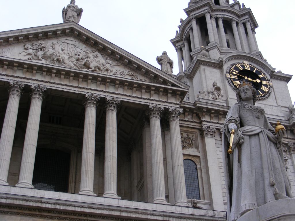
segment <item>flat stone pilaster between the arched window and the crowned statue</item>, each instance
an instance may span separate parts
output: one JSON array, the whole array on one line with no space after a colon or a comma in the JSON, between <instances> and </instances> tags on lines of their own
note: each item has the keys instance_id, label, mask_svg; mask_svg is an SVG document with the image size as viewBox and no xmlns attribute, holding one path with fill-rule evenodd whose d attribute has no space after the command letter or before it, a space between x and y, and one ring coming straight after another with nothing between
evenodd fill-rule
<instances>
[{"instance_id":1,"label":"flat stone pilaster between the arched window and the crowned statue","mask_svg":"<svg viewBox=\"0 0 295 221\"><path fill-rule=\"evenodd\" d=\"M212 210L224 210L222 189L219 176L219 167L215 147L216 129L209 125L202 126L202 135L204 136L204 157L206 162L206 171L208 179L208 188Z\"/></svg>"}]
</instances>

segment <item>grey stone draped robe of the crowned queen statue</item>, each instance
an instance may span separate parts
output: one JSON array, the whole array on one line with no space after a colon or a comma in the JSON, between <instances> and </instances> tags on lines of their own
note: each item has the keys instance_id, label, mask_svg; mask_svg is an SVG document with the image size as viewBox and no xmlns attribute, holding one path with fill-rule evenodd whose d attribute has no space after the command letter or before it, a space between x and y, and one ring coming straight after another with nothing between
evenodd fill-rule
<instances>
[{"instance_id":1,"label":"grey stone draped robe of the crowned queen statue","mask_svg":"<svg viewBox=\"0 0 295 221\"><path fill-rule=\"evenodd\" d=\"M229 123L238 128L231 155L227 154ZM229 110L223 129L227 220L276 199L293 198L283 151L274 134L262 108L240 102Z\"/></svg>"}]
</instances>

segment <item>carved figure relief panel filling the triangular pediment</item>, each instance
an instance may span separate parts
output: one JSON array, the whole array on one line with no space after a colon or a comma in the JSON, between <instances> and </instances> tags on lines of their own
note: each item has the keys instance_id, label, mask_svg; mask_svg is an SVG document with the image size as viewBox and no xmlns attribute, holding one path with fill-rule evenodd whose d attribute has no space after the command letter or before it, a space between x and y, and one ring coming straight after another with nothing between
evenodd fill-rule
<instances>
[{"instance_id":1,"label":"carved figure relief panel filling the triangular pediment","mask_svg":"<svg viewBox=\"0 0 295 221\"><path fill-rule=\"evenodd\" d=\"M16 44L9 48L3 47L0 48L0 56L150 82L148 78L128 70L119 62L110 59L73 37Z\"/></svg>"}]
</instances>

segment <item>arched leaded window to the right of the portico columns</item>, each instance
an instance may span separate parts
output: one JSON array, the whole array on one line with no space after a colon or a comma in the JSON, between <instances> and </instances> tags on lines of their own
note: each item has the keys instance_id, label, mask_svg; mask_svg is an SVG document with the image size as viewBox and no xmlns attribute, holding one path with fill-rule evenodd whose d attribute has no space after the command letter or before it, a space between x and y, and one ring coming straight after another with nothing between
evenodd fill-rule
<instances>
[{"instance_id":1,"label":"arched leaded window to the right of the portico columns","mask_svg":"<svg viewBox=\"0 0 295 221\"><path fill-rule=\"evenodd\" d=\"M185 159L183 160L183 166L186 187L186 198L200 199L199 179L196 164L192 160Z\"/></svg>"}]
</instances>

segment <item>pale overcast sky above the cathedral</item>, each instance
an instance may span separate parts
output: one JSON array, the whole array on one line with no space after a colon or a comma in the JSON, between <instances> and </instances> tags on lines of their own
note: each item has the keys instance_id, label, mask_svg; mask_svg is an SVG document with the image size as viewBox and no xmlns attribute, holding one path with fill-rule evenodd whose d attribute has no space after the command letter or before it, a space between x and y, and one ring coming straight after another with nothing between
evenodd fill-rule
<instances>
[{"instance_id":1,"label":"pale overcast sky above the cathedral","mask_svg":"<svg viewBox=\"0 0 295 221\"><path fill-rule=\"evenodd\" d=\"M83 8L80 25L116 44L140 59L160 68L156 57L163 51L174 61L178 72L177 54L170 39L174 38L183 9L189 0L76 0ZM233 1L230 0L230 3ZM62 23L62 9L70 0L0 0L0 31ZM293 75L294 16L288 0L242 0L251 8L258 23L256 39L268 63L283 73ZM294 77L295 78L295 77ZM295 79L288 83L295 101ZM286 88L282 88L286 90ZM291 104L291 103L290 103Z\"/></svg>"}]
</instances>

